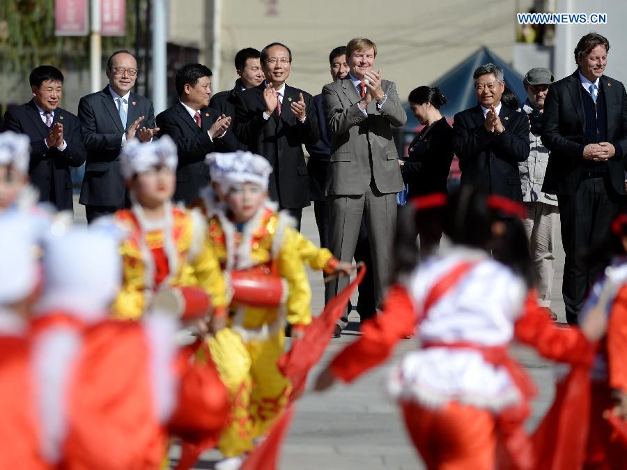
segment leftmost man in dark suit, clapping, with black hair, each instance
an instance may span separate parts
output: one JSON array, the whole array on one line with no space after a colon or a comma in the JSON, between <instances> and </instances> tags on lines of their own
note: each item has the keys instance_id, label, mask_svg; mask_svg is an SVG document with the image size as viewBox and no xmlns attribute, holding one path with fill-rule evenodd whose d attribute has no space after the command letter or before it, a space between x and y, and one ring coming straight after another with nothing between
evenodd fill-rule
<instances>
[{"instance_id":1,"label":"leftmost man in dark suit, clapping, with black hair","mask_svg":"<svg viewBox=\"0 0 627 470\"><path fill-rule=\"evenodd\" d=\"M40 66L29 77L33 99L9 109L4 130L26 134L31 139L29 178L40 201L49 201L59 211L72 211L70 167L85 161L85 148L77 117L59 107L63 74L53 66Z\"/></svg>"}]
</instances>

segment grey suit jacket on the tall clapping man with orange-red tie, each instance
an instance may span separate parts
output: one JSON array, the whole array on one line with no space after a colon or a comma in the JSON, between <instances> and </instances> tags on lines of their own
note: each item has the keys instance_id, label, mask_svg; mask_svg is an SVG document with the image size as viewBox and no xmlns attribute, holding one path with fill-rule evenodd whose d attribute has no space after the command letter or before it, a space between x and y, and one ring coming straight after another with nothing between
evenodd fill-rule
<instances>
[{"instance_id":1,"label":"grey suit jacket on the tall clapping man with orange-red tie","mask_svg":"<svg viewBox=\"0 0 627 470\"><path fill-rule=\"evenodd\" d=\"M403 126L407 114L394 82L383 80L382 88L387 100L381 109L373 100L366 117L358 109L359 93L349 78L324 86L323 108L331 131L327 196L362 195L371 179L382 193L403 190L392 127Z\"/></svg>"}]
</instances>

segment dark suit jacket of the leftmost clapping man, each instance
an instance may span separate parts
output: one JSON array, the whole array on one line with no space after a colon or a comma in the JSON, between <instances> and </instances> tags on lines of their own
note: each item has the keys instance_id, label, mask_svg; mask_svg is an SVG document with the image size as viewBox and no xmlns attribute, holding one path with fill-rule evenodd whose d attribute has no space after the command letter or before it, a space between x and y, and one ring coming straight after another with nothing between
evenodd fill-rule
<instances>
[{"instance_id":1,"label":"dark suit jacket of the leftmost clapping man","mask_svg":"<svg viewBox=\"0 0 627 470\"><path fill-rule=\"evenodd\" d=\"M4 130L26 134L31 139L29 177L39 190L40 201L52 202L59 211L72 211L70 167L80 167L85 162L85 148L77 117L60 107L54 110L52 124L63 124L63 139L68 144L64 151L46 146L49 128L41 120L35 100L9 109L4 120Z\"/></svg>"}]
</instances>

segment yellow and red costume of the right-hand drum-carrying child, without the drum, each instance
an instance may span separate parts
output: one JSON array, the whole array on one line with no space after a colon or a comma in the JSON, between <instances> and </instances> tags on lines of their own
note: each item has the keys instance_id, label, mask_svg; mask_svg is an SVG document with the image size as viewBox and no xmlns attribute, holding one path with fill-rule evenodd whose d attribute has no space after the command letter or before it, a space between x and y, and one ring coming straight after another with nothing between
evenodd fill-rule
<instances>
[{"instance_id":1,"label":"yellow and red costume of the right-hand drum-carrying child, without the drum","mask_svg":"<svg viewBox=\"0 0 627 470\"><path fill-rule=\"evenodd\" d=\"M222 211L208 222L208 241L226 273L274 271L288 285L284 307L231 308L227 328L209 340L212 359L234 400L231 422L219 443L226 457L250 450L252 439L264 434L288 402L290 383L277 368L285 320L294 326L311 323L311 289L299 252L304 237L288 220L266 204L241 230Z\"/></svg>"}]
</instances>

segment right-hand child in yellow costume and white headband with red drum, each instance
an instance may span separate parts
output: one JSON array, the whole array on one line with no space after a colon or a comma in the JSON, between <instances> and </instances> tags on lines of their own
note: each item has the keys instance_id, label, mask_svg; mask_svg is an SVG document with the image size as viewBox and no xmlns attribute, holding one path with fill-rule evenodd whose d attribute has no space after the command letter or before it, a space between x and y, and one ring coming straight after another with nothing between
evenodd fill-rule
<instances>
[{"instance_id":1,"label":"right-hand child in yellow costume and white headband with red drum","mask_svg":"<svg viewBox=\"0 0 627 470\"><path fill-rule=\"evenodd\" d=\"M217 333L209 340L234 397L231 424L219 442L226 458L215 466L226 470L240 467L253 439L286 407L291 385L277 368L284 325L293 325L293 337L302 335L311 322L311 290L293 221L267 200L268 160L238 152L231 158L211 154L208 164L225 203L209 219L210 244L233 285L231 317L212 325ZM251 289L246 298L242 285Z\"/></svg>"}]
</instances>

